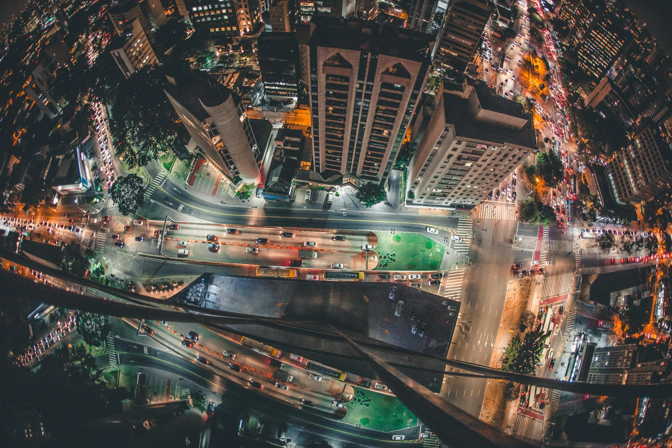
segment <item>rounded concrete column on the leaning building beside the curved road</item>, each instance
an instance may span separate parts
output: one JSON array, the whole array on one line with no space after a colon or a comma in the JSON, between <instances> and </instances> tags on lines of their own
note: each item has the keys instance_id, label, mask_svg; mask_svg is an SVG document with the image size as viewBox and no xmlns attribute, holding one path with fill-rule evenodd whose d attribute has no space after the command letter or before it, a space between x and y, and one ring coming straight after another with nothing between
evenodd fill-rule
<instances>
[{"instance_id":1,"label":"rounded concrete column on the leaning building beside the curved road","mask_svg":"<svg viewBox=\"0 0 672 448\"><path fill-rule=\"evenodd\" d=\"M241 116L238 115L238 109L233 97L228 89L219 89L224 94L224 101L220 102L220 95L214 98L201 97L200 101L208 115L212 117L212 122L217 127L219 136L222 139L226 150L231 156L231 161L238 170L238 174L245 183L257 185L261 182L261 172L259 165L247 140L247 134L243 128ZM224 93L226 90L226 93ZM245 118L244 120L247 120Z\"/></svg>"}]
</instances>

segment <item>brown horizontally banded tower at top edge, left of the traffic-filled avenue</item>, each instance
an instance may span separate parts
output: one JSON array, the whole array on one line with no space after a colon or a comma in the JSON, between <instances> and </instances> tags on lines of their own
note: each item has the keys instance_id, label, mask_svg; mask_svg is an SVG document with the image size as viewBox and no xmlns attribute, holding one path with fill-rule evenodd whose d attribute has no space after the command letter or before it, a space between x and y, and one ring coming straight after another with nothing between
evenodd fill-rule
<instances>
[{"instance_id":1,"label":"brown horizontally banded tower at top edge, left of the traffic-filled avenue","mask_svg":"<svg viewBox=\"0 0 672 448\"><path fill-rule=\"evenodd\" d=\"M452 1L434 50L433 62L464 73L492 10L487 0Z\"/></svg>"}]
</instances>

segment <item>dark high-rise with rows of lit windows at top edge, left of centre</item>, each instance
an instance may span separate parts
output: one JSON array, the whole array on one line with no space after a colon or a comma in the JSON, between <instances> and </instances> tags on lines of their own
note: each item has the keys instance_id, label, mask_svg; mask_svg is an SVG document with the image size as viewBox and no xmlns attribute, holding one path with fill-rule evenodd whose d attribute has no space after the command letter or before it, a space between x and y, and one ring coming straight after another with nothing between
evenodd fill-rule
<instances>
[{"instance_id":1,"label":"dark high-rise with rows of lit windows at top edge, left of centre","mask_svg":"<svg viewBox=\"0 0 672 448\"><path fill-rule=\"evenodd\" d=\"M185 6L200 36L243 36L261 28L259 0L185 0Z\"/></svg>"}]
</instances>

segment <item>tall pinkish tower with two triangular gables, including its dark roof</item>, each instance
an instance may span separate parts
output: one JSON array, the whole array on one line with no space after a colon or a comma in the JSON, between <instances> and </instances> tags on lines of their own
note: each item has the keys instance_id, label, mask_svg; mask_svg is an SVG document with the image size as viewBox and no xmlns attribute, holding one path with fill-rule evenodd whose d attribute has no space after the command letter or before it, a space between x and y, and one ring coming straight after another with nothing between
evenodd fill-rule
<instances>
[{"instance_id":1,"label":"tall pinkish tower with two triangular gables, including its dark roof","mask_svg":"<svg viewBox=\"0 0 672 448\"><path fill-rule=\"evenodd\" d=\"M312 169L384 182L425 85L433 36L335 17L316 17L311 28Z\"/></svg>"}]
</instances>

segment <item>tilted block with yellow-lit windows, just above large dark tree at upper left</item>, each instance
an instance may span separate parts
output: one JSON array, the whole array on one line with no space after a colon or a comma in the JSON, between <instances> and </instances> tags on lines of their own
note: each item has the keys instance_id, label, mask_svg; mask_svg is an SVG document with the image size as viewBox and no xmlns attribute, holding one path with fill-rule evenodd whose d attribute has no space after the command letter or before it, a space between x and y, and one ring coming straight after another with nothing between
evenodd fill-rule
<instances>
[{"instance_id":1,"label":"tilted block with yellow-lit windows, just above large dark tree at upper left","mask_svg":"<svg viewBox=\"0 0 672 448\"><path fill-rule=\"evenodd\" d=\"M110 52L127 79L143 66L159 62L138 19L126 30L126 36L112 44Z\"/></svg>"}]
</instances>

